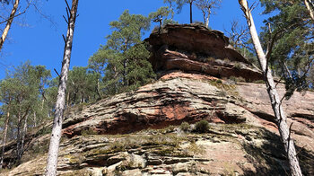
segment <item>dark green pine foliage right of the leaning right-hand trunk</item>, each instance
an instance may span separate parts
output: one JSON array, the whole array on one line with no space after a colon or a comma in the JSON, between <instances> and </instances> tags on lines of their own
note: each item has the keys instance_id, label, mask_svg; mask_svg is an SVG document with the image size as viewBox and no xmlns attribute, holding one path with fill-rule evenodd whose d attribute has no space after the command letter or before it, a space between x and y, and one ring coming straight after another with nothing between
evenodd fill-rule
<instances>
[{"instance_id":1,"label":"dark green pine foliage right of the leaning right-hand trunk","mask_svg":"<svg viewBox=\"0 0 314 176\"><path fill-rule=\"evenodd\" d=\"M307 90L313 84L308 77L314 59L311 30L314 22L310 21L310 13L301 0L261 0L261 4L265 7L264 13L272 14L261 33L262 41L265 47L274 41L270 66L275 75L284 78L285 95L289 98L294 91Z\"/></svg>"}]
</instances>

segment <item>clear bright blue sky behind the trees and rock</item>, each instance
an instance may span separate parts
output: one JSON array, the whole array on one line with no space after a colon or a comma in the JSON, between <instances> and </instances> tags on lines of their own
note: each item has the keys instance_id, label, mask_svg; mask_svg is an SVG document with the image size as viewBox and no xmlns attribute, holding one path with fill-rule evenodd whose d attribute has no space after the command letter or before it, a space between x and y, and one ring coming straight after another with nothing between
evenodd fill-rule
<instances>
[{"instance_id":1,"label":"clear bright blue sky behind the trees and rock","mask_svg":"<svg viewBox=\"0 0 314 176\"><path fill-rule=\"evenodd\" d=\"M100 48L100 44L106 43L105 37L111 32L109 22L118 20L119 15L126 9L130 13L148 15L164 5L162 0L80 0L71 67L87 66L89 57ZM53 69L60 70L64 49L62 34L66 33L66 23L62 17L65 14L65 2L42 0L39 9L47 14L53 23L39 15L33 8L14 20L9 31L9 39L4 42L4 48L1 51L0 79L4 78L5 69L18 66L26 60L30 60L32 65L47 66L49 70L52 70L53 77L56 76ZM193 20L202 22L201 12L196 7L193 10ZM264 16L260 13L260 7L253 12L257 28L263 25ZM189 22L188 5L182 9L181 13L175 15L174 20L179 23ZM223 0L222 7L216 10L209 25L214 30L230 30L232 20L239 20L242 24L246 24L238 1ZM154 25L157 23L152 25L152 29ZM150 31L147 31L145 37L148 37L149 33Z\"/></svg>"}]
</instances>

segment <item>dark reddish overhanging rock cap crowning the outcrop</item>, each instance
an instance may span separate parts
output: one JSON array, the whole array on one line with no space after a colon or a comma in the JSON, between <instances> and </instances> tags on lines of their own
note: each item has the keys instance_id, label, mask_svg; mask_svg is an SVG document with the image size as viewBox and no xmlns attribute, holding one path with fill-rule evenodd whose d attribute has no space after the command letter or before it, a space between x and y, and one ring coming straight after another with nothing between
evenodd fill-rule
<instances>
[{"instance_id":1,"label":"dark reddish overhanging rock cap crowning the outcrop","mask_svg":"<svg viewBox=\"0 0 314 176\"><path fill-rule=\"evenodd\" d=\"M221 31L210 31L193 24L168 24L153 31L151 62L155 71L179 69L216 77L243 77L247 81L262 80L255 66L230 47Z\"/></svg>"}]
</instances>

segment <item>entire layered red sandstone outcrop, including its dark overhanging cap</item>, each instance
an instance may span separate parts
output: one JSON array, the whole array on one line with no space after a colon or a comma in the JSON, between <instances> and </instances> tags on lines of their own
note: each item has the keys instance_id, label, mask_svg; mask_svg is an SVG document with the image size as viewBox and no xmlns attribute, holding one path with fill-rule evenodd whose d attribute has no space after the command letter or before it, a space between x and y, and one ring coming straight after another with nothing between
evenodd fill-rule
<instances>
[{"instance_id":1,"label":"entire layered red sandstone outcrop, including its dark overhanging cap","mask_svg":"<svg viewBox=\"0 0 314 176\"><path fill-rule=\"evenodd\" d=\"M264 84L219 78L260 72L220 31L196 25L168 25L148 39L161 77L135 92L78 106L66 113L60 147L60 175L285 175L283 146ZM203 58L213 57L204 60ZM228 58L229 65L226 64ZM235 65L240 64L241 69ZM199 68L199 66L201 68ZM205 68L202 68L205 66ZM284 87L278 84L283 94ZM314 92L295 92L283 101L292 124L304 175L314 174ZM210 122L207 133L191 131ZM187 132L179 128L190 123ZM41 132L49 128L41 128ZM48 135L34 133L24 163L2 175L40 175ZM6 147L6 159L13 153Z\"/></svg>"}]
</instances>

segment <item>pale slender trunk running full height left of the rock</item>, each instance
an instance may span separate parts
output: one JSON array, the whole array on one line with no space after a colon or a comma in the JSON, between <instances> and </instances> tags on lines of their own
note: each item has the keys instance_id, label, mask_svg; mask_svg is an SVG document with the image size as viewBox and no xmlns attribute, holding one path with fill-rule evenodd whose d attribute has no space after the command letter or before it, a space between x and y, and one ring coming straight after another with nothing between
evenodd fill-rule
<instances>
[{"instance_id":1,"label":"pale slender trunk running full height left of the rock","mask_svg":"<svg viewBox=\"0 0 314 176\"><path fill-rule=\"evenodd\" d=\"M57 156L58 156L60 138L61 138L63 113L65 110L66 82L67 82L67 75L68 75L69 66L70 66L70 58L71 58L72 43L73 43L73 37L74 37L74 26L75 26L75 20L76 20L77 6L78 6L78 0L72 0L71 10L68 9L68 11L70 12L70 16L68 17L68 21L67 21L68 26L67 26L67 33L66 33L66 39L65 39L65 52L64 52L60 81L59 81L59 86L58 86L58 91L57 91L55 119L54 119L54 123L52 127L51 137L50 137L47 167L46 167L46 173L45 173L45 175L47 176L57 175ZM67 8L69 8L69 6Z\"/></svg>"}]
</instances>

